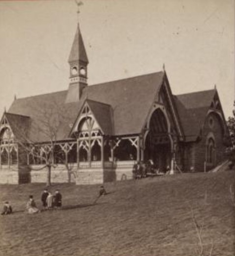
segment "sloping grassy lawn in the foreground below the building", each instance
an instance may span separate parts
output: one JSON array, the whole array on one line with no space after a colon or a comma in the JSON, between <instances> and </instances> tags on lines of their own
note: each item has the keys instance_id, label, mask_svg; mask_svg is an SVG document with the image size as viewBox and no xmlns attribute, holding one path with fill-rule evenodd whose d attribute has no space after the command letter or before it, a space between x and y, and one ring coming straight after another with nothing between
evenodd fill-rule
<instances>
[{"instance_id":1,"label":"sloping grassy lawn in the foreground below the building","mask_svg":"<svg viewBox=\"0 0 235 256\"><path fill-rule=\"evenodd\" d=\"M179 174L99 186L53 185L63 195L61 211L28 215L29 194L41 207L42 184L1 185L0 200L16 212L0 216L4 256L195 256L197 222L204 225L205 256L233 256L235 208L230 201L234 171Z\"/></svg>"}]
</instances>

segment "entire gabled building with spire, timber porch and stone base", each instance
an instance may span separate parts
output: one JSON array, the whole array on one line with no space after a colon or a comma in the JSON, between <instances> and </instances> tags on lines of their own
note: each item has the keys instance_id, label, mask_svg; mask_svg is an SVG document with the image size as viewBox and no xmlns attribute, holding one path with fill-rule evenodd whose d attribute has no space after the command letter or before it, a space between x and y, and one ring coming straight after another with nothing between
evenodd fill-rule
<instances>
[{"instance_id":1,"label":"entire gabled building with spire, timber porch and stone base","mask_svg":"<svg viewBox=\"0 0 235 256\"><path fill-rule=\"evenodd\" d=\"M208 171L224 160L225 117L216 88L173 95L165 68L88 86L78 24L65 91L19 98L0 121L0 183L95 184L133 178L137 161L160 171ZM50 84L50 83L49 83Z\"/></svg>"}]
</instances>

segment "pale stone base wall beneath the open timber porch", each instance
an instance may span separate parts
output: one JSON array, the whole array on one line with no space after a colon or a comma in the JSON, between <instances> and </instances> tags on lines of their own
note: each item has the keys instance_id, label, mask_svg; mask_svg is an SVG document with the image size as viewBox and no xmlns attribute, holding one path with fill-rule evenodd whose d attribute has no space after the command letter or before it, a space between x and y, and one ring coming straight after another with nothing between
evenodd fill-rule
<instances>
[{"instance_id":1,"label":"pale stone base wall beneath the open timber porch","mask_svg":"<svg viewBox=\"0 0 235 256\"><path fill-rule=\"evenodd\" d=\"M43 168L44 165L21 166L20 168L18 166L4 167L0 169L0 184L46 183L47 168ZM71 182L76 182L77 185L103 184L105 182L133 179L133 165L125 166L124 162L119 162L114 167L107 166L105 168L93 167L77 170L76 164L69 168L71 168ZM65 165L52 167L51 182L68 182L68 172Z\"/></svg>"}]
</instances>

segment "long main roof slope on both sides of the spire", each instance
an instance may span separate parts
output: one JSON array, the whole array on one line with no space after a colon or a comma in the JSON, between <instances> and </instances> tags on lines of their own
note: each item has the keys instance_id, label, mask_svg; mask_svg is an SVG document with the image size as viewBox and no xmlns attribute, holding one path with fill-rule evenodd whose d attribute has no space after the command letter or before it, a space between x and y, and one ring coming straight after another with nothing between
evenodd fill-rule
<instances>
[{"instance_id":1,"label":"long main roof slope on both sides of the spire","mask_svg":"<svg viewBox=\"0 0 235 256\"><path fill-rule=\"evenodd\" d=\"M157 72L88 86L83 90L79 102L64 103L67 91L20 98L14 100L8 112L29 116L31 118L29 138L33 141L44 142L49 139L45 115L53 112L51 109L56 106L60 114L66 117L59 125L57 139L65 140L68 139L71 124L75 122L84 102L89 100L97 121L99 123L104 122L102 125L104 132L109 134L112 132L113 135L137 134L141 132L144 126L163 77L163 72ZM102 103L108 104L109 107L104 107ZM101 109L105 113L112 109L110 120L113 120L113 126L107 125L108 117L98 114ZM52 113L52 120L53 116L57 114L56 112Z\"/></svg>"}]
</instances>

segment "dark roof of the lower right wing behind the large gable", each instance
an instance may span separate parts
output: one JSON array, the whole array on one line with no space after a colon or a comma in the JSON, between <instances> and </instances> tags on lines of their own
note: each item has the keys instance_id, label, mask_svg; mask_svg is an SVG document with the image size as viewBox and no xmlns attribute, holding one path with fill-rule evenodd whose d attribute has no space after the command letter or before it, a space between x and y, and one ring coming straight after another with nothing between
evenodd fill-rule
<instances>
[{"instance_id":1,"label":"dark roof of the lower right wing behind the large gable","mask_svg":"<svg viewBox=\"0 0 235 256\"><path fill-rule=\"evenodd\" d=\"M195 141L199 136L215 92L208 90L174 97L186 141Z\"/></svg>"}]
</instances>

